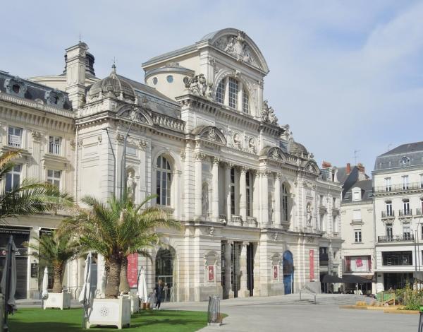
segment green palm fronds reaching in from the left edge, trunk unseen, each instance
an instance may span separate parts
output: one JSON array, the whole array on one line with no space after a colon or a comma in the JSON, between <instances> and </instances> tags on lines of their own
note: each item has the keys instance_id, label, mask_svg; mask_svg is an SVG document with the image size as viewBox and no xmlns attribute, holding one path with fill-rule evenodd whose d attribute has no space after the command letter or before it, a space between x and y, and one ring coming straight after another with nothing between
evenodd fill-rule
<instances>
[{"instance_id":1,"label":"green palm fronds reaching in from the left edge, trunk unseen","mask_svg":"<svg viewBox=\"0 0 423 332\"><path fill-rule=\"evenodd\" d=\"M14 159L20 156L19 150L0 155L0 182L15 167ZM16 215L44 213L58 206L72 206L73 198L60 191L54 184L24 179L11 190L0 192L0 219Z\"/></svg>"}]
</instances>

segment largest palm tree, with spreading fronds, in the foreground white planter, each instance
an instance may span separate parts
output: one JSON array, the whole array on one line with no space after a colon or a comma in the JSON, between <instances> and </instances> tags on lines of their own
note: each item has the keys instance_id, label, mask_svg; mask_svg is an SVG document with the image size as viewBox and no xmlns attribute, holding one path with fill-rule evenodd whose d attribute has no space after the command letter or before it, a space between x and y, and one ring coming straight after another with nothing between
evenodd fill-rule
<instances>
[{"instance_id":1,"label":"largest palm tree, with spreading fronds, in the foreground white planter","mask_svg":"<svg viewBox=\"0 0 423 332\"><path fill-rule=\"evenodd\" d=\"M135 204L123 195L112 197L104 204L92 196L85 196L82 202L90 209L80 210L75 217L66 220L64 230L80 235L82 251L97 251L106 262L106 298L116 298L121 284L122 265L126 266L128 254L138 252L149 257L147 249L159 244L160 227L179 228L175 220L157 206L146 204L155 196L149 196L141 204ZM122 273L123 283L125 273ZM127 287L123 285L125 292Z\"/></svg>"}]
</instances>

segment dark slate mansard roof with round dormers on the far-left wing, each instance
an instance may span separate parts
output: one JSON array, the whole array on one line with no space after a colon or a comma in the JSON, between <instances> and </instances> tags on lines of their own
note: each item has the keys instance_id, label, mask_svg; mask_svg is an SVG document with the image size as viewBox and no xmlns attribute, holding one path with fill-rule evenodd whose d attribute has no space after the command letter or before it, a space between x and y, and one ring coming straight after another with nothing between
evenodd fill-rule
<instances>
[{"instance_id":1,"label":"dark slate mansard roof with round dormers on the far-left wing","mask_svg":"<svg viewBox=\"0 0 423 332\"><path fill-rule=\"evenodd\" d=\"M40 105L71 109L68 93L0 71L0 92L33 100Z\"/></svg>"}]
</instances>

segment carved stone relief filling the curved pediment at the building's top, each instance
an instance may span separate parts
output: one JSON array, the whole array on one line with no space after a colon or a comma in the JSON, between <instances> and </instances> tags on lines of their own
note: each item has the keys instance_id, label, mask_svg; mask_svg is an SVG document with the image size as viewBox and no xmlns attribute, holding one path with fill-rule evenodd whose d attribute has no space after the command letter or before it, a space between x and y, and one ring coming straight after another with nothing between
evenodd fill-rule
<instances>
[{"instance_id":1,"label":"carved stone relief filling the curved pediment at the building's top","mask_svg":"<svg viewBox=\"0 0 423 332\"><path fill-rule=\"evenodd\" d=\"M238 31L238 35L226 35L214 42L214 47L235 57L237 61L259 67L250 45L245 42L245 32Z\"/></svg>"}]
</instances>

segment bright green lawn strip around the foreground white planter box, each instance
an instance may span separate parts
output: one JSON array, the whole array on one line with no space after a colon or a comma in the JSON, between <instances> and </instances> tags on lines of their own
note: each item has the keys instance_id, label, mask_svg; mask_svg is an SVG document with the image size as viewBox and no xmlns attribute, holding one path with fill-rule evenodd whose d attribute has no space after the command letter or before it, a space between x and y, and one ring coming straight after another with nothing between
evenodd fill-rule
<instances>
[{"instance_id":1,"label":"bright green lawn strip around the foreground white planter box","mask_svg":"<svg viewBox=\"0 0 423 332\"><path fill-rule=\"evenodd\" d=\"M223 314L223 316L226 316ZM42 310L39 308L19 309L9 316L9 331L68 332L86 331L81 328L82 309ZM134 314L130 328L124 331L182 332L197 331L207 326L207 312L188 312L177 310L147 310ZM93 331L116 331L116 328L90 328Z\"/></svg>"}]
</instances>

